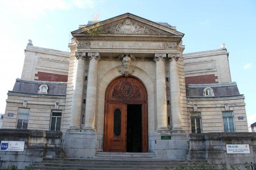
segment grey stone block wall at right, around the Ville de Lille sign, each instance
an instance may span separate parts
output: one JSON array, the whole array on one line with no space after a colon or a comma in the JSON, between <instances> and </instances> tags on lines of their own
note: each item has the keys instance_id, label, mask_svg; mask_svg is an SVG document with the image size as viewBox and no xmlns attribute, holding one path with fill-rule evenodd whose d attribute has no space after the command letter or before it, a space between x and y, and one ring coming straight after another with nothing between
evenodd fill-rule
<instances>
[{"instance_id":1,"label":"grey stone block wall at right, around the Ville de Lille sign","mask_svg":"<svg viewBox=\"0 0 256 170\"><path fill-rule=\"evenodd\" d=\"M209 163L221 162L231 164L245 164L256 162L256 133L250 132L222 132L222 133L191 133L189 135L189 160L208 160ZM226 144L248 144L250 154L227 154ZM245 167L242 165L240 168Z\"/></svg>"}]
</instances>

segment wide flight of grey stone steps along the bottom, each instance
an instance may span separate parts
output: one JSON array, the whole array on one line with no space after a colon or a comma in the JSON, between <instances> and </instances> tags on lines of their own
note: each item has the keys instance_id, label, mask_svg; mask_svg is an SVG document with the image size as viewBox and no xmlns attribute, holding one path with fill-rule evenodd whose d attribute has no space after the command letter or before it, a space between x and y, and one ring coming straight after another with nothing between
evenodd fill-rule
<instances>
[{"instance_id":1,"label":"wide flight of grey stone steps along the bottom","mask_svg":"<svg viewBox=\"0 0 256 170\"><path fill-rule=\"evenodd\" d=\"M121 154L120 154L121 155ZM157 160L150 158L138 158L131 156L132 159L112 159L112 158L44 158L41 163L33 163L35 169L44 170L164 170L168 167L169 170L175 170L180 165L193 165L194 162L204 163L205 167L209 166L206 161L188 161L188 160ZM98 157L101 157L99 155ZM104 157L107 157L107 154ZM144 156L144 155L143 155ZM110 156L111 157L111 156ZM116 154L113 154L116 157ZM121 155L124 157L124 155Z\"/></svg>"}]
</instances>

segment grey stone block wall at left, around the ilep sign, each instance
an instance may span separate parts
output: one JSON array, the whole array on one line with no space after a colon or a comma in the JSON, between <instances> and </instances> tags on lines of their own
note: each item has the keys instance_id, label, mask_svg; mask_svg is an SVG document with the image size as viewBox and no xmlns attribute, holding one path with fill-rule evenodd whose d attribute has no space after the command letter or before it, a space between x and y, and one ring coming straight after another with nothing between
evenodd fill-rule
<instances>
[{"instance_id":1,"label":"grey stone block wall at left, around the ilep sign","mask_svg":"<svg viewBox=\"0 0 256 170\"><path fill-rule=\"evenodd\" d=\"M0 151L2 167L13 163L24 169L43 158L61 158L61 138L60 131L0 129L0 141L25 141L24 151Z\"/></svg>"}]
</instances>

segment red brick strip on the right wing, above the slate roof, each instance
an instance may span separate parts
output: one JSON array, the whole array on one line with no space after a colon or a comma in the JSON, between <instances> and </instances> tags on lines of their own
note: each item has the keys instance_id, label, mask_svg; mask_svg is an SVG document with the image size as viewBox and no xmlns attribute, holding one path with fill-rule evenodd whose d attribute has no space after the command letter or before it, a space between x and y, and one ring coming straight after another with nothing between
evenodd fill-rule
<instances>
[{"instance_id":1,"label":"red brick strip on the right wing, above the slate roof","mask_svg":"<svg viewBox=\"0 0 256 170\"><path fill-rule=\"evenodd\" d=\"M215 82L215 79L218 79L218 76L213 75L202 75L202 76L190 76L185 77L186 84L211 84L218 83Z\"/></svg>"}]
</instances>

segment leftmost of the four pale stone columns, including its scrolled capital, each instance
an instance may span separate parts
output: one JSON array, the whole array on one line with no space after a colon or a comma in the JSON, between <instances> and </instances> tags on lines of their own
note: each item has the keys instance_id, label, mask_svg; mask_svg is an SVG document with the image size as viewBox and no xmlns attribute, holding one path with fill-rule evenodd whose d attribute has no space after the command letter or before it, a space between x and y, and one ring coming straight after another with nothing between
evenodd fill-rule
<instances>
[{"instance_id":1,"label":"leftmost of the four pale stone columns, including its scrolled capital","mask_svg":"<svg viewBox=\"0 0 256 170\"><path fill-rule=\"evenodd\" d=\"M71 107L71 125L69 129L81 129L80 119L82 110L83 74L85 69L85 52L76 51L76 65L73 87L73 98Z\"/></svg>"}]
</instances>

